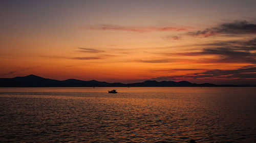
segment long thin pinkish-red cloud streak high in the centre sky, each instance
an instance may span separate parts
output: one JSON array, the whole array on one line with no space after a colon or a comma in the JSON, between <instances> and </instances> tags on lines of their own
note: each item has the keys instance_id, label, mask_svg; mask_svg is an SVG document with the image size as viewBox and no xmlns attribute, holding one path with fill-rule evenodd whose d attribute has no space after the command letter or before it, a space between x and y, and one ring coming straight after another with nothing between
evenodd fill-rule
<instances>
[{"instance_id":1,"label":"long thin pinkish-red cloud streak high in the centre sky","mask_svg":"<svg viewBox=\"0 0 256 143\"><path fill-rule=\"evenodd\" d=\"M112 25L112 24L101 24L98 26L91 26L87 29L89 30L103 30L103 31L127 31L127 32L168 32L168 31L188 31L190 27L156 27L156 26L119 26L119 25Z\"/></svg>"}]
</instances>

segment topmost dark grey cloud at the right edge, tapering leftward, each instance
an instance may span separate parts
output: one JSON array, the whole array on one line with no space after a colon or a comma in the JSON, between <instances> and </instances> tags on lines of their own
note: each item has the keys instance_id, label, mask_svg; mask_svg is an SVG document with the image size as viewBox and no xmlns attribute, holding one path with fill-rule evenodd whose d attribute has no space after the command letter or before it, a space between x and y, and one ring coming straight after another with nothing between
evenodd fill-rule
<instances>
[{"instance_id":1,"label":"topmost dark grey cloud at the right edge, tapering leftward","mask_svg":"<svg viewBox=\"0 0 256 143\"><path fill-rule=\"evenodd\" d=\"M243 21L223 23L216 27L206 28L203 31L188 32L186 35L193 37L209 37L218 34L256 34L256 24Z\"/></svg>"}]
</instances>

